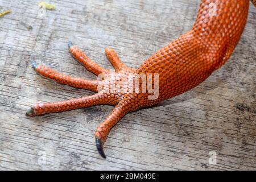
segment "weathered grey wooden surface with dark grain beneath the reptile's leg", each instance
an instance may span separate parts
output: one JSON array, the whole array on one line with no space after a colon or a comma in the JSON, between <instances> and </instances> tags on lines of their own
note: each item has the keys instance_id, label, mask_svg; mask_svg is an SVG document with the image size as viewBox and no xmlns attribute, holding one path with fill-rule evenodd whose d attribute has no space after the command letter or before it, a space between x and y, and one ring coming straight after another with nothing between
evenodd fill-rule
<instances>
[{"instance_id":1,"label":"weathered grey wooden surface with dark grain beneath the reptile's leg","mask_svg":"<svg viewBox=\"0 0 256 182\"><path fill-rule=\"evenodd\" d=\"M36 74L31 60L60 72L94 79L68 52L72 40L97 63L112 68L113 47L138 68L159 48L188 31L199 1L0 0L0 169L256 169L256 9L232 57L197 88L156 107L127 114L98 154L94 131L111 106L26 117L36 102L92 92L59 85ZM32 26L32 30L27 27ZM217 164L209 164L209 152Z\"/></svg>"}]
</instances>

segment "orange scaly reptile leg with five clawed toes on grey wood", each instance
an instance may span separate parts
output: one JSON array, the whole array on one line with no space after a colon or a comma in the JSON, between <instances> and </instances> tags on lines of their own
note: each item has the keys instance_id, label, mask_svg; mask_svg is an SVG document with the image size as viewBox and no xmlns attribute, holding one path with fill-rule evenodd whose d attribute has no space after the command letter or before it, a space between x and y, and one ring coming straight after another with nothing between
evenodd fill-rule
<instances>
[{"instance_id":1,"label":"orange scaly reptile leg with five clawed toes on grey wood","mask_svg":"<svg viewBox=\"0 0 256 182\"><path fill-rule=\"evenodd\" d=\"M210 13L214 13L210 3L216 5L216 16L210 16ZM101 68L69 42L69 51L72 55L90 72L96 75L104 73L103 80L89 81L75 78L33 63L36 72L56 80L60 84L67 84L75 88L97 92L97 87L102 85L102 89L93 96L56 103L36 104L26 114L35 116L93 105L114 105L113 111L98 126L95 133L97 149L105 158L103 145L109 131L124 115L141 107L155 105L194 88L229 59L245 27L248 8L249 0L202 0L192 30L160 49L144 61L137 70L126 67L113 49L106 48L106 56L115 68L115 73L110 74L109 70ZM128 78L129 73L145 73L146 75L158 73L158 98L150 100L149 93L110 92L110 84L114 82L115 85L118 85L121 82L121 77Z\"/></svg>"}]
</instances>

